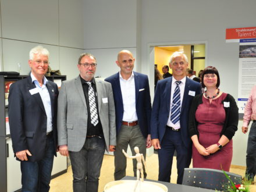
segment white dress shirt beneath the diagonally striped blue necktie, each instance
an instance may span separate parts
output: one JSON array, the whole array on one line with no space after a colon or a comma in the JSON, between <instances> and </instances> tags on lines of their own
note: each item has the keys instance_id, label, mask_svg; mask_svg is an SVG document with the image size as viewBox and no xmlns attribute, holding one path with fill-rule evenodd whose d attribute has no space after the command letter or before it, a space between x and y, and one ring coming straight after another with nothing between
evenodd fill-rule
<instances>
[{"instance_id":1,"label":"white dress shirt beneath the diagonally striped blue necktie","mask_svg":"<svg viewBox=\"0 0 256 192\"><path fill-rule=\"evenodd\" d=\"M169 112L169 117L168 117L167 125L169 127L173 127L174 129L180 129L180 122L177 122L176 124L173 124L170 121L170 115L172 115L172 98L173 98L173 94L174 94L175 88L177 86L175 81L177 81L177 80L174 77L172 77L172 90L170 91L170 112ZM184 90L185 90L185 84L186 84L186 77L184 77L180 81L182 81L182 83L179 84L179 87L180 87L180 110L181 110L182 109L183 95L184 95Z\"/></svg>"}]
</instances>

